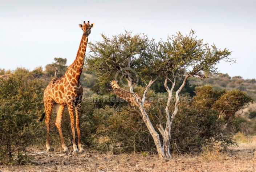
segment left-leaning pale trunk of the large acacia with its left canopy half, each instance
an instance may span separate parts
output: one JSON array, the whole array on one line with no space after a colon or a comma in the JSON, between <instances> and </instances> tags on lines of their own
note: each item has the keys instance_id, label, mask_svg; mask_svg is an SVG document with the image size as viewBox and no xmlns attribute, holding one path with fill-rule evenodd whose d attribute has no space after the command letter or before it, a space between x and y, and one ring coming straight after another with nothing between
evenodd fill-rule
<instances>
[{"instance_id":1,"label":"left-leaning pale trunk of the large acacia with its left canopy half","mask_svg":"<svg viewBox=\"0 0 256 172\"><path fill-rule=\"evenodd\" d=\"M91 52L86 58L88 69L96 73L99 83L109 82L117 76L122 84L128 83L130 92L138 103L142 118L154 139L159 156L166 158L159 134L155 131L143 106L150 86L159 78L155 70L155 57L151 50L151 45L154 45L153 40L149 40L144 34L132 36L131 32L127 31L112 38L107 38L104 34L101 36L102 42L96 41L95 44L89 44ZM138 84L138 79L146 85L142 101L139 101L133 91L133 83Z\"/></svg>"}]
</instances>

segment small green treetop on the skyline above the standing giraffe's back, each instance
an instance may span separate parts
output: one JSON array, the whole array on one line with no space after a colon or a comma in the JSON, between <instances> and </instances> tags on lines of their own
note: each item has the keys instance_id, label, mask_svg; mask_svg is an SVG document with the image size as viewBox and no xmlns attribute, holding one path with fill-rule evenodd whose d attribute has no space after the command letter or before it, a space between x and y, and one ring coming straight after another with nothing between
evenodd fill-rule
<instances>
[{"instance_id":1,"label":"small green treetop on the skyline above the standing giraffe's back","mask_svg":"<svg viewBox=\"0 0 256 172\"><path fill-rule=\"evenodd\" d=\"M66 66L67 59L61 58L61 57L55 57L52 64L48 64L45 66L45 71L47 74L50 74L51 76L54 76L55 68L58 68L58 77L61 77L64 75L66 70L68 69L68 66Z\"/></svg>"}]
</instances>

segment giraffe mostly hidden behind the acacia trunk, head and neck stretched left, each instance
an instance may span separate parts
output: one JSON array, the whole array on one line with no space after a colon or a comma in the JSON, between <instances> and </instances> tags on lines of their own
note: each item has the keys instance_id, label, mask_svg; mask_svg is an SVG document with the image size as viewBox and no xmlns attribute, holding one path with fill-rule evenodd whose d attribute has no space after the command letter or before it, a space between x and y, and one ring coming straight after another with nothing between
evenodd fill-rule
<instances>
[{"instance_id":1,"label":"giraffe mostly hidden behind the acacia trunk, head and neck stretched left","mask_svg":"<svg viewBox=\"0 0 256 172\"><path fill-rule=\"evenodd\" d=\"M137 104L136 100L134 99L133 95L131 94L131 92L119 87L117 82L114 80L110 83L111 83L111 86L112 86L114 92L118 95L119 98L125 99L133 106L138 106L138 104ZM137 93L134 93L134 94L138 97L139 101L141 102L142 97ZM145 100L144 107L149 107L149 106L150 106L150 102Z\"/></svg>"}]
</instances>

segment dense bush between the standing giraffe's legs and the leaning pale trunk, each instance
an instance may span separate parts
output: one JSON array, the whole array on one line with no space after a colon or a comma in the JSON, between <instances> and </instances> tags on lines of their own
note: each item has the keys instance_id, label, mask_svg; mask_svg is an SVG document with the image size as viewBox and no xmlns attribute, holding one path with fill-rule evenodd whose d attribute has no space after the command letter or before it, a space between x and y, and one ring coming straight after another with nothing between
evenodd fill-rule
<instances>
[{"instance_id":1,"label":"dense bush between the standing giraffe's legs and the leaning pale trunk","mask_svg":"<svg viewBox=\"0 0 256 172\"><path fill-rule=\"evenodd\" d=\"M115 94L93 94L81 109L82 141L99 151L113 153L154 150L153 139L137 111Z\"/></svg>"}]
</instances>

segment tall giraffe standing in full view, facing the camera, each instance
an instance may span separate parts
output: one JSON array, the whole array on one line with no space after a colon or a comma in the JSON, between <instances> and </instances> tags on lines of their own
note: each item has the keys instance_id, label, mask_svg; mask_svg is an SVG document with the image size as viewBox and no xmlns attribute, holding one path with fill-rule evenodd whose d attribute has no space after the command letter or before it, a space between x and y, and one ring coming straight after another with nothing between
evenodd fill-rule
<instances>
[{"instance_id":1,"label":"tall giraffe standing in full view, facing the camera","mask_svg":"<svg viewBox=\"0 0 256 172\"><path fill-rule=\"evenodd\" d=\"M74 62L68 67L68 70L60 78L54 78L50 81L49 85L44 90L44 107L45 107L45 124L46 124L46 148L47 151L53 151L53 148L50 147L49 143L49 126L50 126L50 116L52 113L53 106L56 108L57 116L55 120L55 125L58 128L61 139L61 147L64 149L64 152L68 150L64 143L62 130L61 130L61 119L64 111L64 107L68 106L69 116L70 116L70 125L73 134L73 153L78 153L75 139L75 122L74 122L74 108L76 110L76 128L77 128L77 137L78 137L78 148L79 152L84 153L84 148L81 144L81 134L79 126L80 118L80 108L81 108L81 98L83 95L83 88L80 84L80 75L84 66L84 57L85 50L88 42L88 35L91 33L91 28L94 24L79 24L79 27L83 30L82 39L77 51L77 56ZM44 119L45 113L42 114L42 119Z\"/></svg>"}]
</instances>

